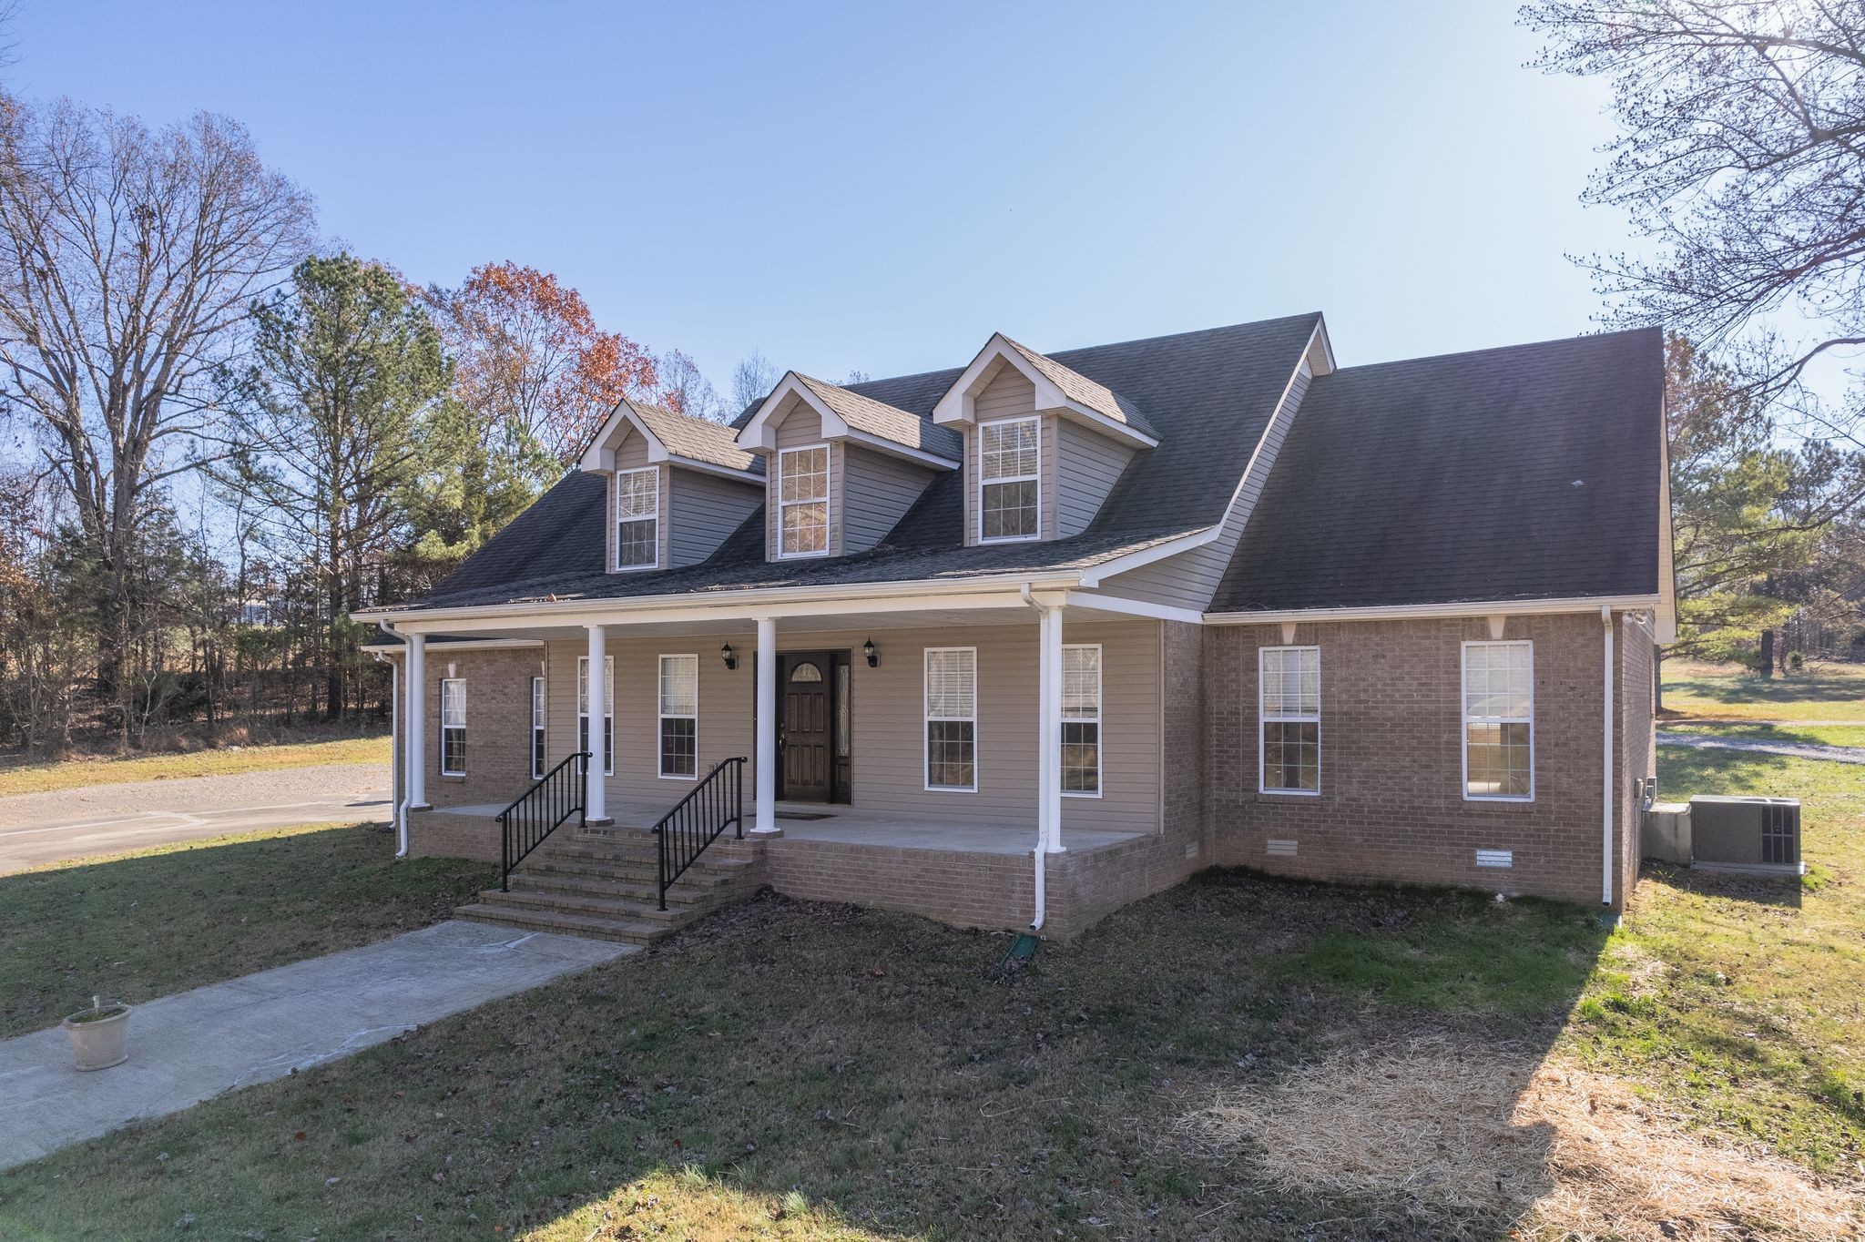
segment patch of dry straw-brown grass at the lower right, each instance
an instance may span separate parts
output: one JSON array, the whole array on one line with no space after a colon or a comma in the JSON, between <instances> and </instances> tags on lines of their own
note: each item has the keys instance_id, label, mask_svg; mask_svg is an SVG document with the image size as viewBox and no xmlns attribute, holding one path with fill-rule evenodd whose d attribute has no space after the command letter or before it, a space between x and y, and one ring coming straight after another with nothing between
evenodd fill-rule
<instances>
[{"instance_id":1,"label":"patch of dry straw-brown grass at the lower right","mask_svg":"<svg viewBox=\"0 0 1865 1242\"><path fill-rule=\"evenodd\" d=\"M1858 1238L1865 1184L1718 1147L1621 1078L1447 1041L1339 1052L1184 1119L1250 1149L1289 1194L1333 1194L1395 1218L1444 1214L1488 1236ZM1485 1221L1490 1221L1485 1225Z\"/></svg>"}]
</instances>

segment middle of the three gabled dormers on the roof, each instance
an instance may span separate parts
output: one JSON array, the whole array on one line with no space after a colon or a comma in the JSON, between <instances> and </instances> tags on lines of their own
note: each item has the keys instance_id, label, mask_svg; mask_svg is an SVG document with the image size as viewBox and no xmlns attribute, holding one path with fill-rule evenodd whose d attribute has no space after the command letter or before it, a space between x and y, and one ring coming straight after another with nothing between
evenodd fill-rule
<instances>
[{"instance_id":1,"label":"middle of the three gabled dormers on the roof","mask_svg":"<svg viewBox=\"0 0 1865 1242\"><path fill-rule=\"evenodd\" d=\"M765 556L847 556L877 546L919 494L959 468L944 427L852 388L787 373L739 433L765 459Z\"/></svg>"}]
</instances>

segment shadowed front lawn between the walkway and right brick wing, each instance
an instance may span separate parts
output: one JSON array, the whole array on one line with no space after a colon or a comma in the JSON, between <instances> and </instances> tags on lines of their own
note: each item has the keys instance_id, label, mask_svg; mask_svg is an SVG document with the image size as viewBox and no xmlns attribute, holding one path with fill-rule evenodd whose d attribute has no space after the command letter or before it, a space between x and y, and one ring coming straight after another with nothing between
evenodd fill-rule
<instances>
[{"instance_id":1,"label":"shadowed front lawn between the walkway and right brick wing","mask_svg":"<svg viewBox=\"0 0 1865 1242\"><path fill-rule=\"evenodd\" d=\"M401 1236L420 1216L433 1236L546 1242L1365 1236L1389 1205L1270 1190L1248 1151L1186 1138L1184 1117L1343 1046L1507 1044L1531 1067L1602 940L1554 903L1207 873L1003 975L1003 936L767 895L0 1175L0 1221L110 1236L192 1212L201 1236ZM1494 1235L1509 1212L1432 1220L1436 1236Z\"/></svg>"}]
</instances>

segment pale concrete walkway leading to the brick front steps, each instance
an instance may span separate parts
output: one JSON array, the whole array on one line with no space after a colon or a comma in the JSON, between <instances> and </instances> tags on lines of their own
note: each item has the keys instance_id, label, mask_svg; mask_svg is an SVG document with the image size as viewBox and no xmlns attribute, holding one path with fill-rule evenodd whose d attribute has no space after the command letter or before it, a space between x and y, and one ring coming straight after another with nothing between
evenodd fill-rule
<instances>
[{"instance_id":1,"label":"pale concrete walkway leading to the brick front steps","mask_svg":"<svg viewBox=\"0 0 1865 1242\"><path fill-rule=\"evenodd\" d=\"M138 1005L114 1069L75 1070L60 1028L0 1041L0 1169L627 953L455 919Z\"/></svg>"}]
</instances>

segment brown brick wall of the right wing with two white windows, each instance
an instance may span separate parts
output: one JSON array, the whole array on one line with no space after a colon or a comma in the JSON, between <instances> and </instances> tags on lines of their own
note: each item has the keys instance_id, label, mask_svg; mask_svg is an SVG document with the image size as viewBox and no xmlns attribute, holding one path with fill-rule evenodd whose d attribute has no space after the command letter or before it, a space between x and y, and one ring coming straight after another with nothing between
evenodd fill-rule
<instances>
[{"instance_id":1,"label":"brown brick wall of the right wing with two white windows","mask_svg":"<svg viewBox=\"0 0 1865 1242\"><path fill-rule=\"evenodd\" d=\"M1292 796L1257 793L1257 649L1283 645L1281 627L1207 627L1214 860L1320 880L1453 884L1598 903L1600 617L1505 621L1505 640L1535 643L1533 802L1462 796L1462 642L1488 638L1485 617L1296 627L1294 643L1320 647L1322 752L1320 794ZM1632 675L1621 666L1619 677ZM1649 696L1647 673L1639 748L1649 748ZM1623 735L1637 725L1626 711ZM1617 783L1628 791L1630 776ZM1624 809L1617 819L1615 856L1624 858L1636 849L1624 824L1636 821ZM1272 839L1294 841L1296 854L1270 854ZM1513 850L1514 865L1477 867L1479 849ZM1632 871L1615 871L1623 901Z\"/></svg>"}]
</instances>

